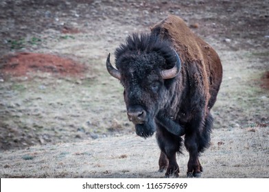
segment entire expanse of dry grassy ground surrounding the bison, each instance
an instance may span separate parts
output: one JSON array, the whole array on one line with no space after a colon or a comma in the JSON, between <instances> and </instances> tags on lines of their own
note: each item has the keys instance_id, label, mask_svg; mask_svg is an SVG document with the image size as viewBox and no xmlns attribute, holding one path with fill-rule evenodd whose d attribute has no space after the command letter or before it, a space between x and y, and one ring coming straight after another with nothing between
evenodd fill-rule
<instances>
[{"instance_id":1,"label":"entire expanse of dry grassy ground surrounding the bison","mask_svg":"<svg viewBox=\"0 0 269 192\"><path fill-rule=\"evenodd\" d=\"M215 48L224 67L203 176L268 178L268 3L1 1L0 176L162 177L155 139L133 134L123 88L105 60L128 34L149 32L176 14ZM14 75L20 62L7 58L18 52L57 62L26 60L27 71ZM178 158L180 177L187 158Z\"/></svg>"}]
</instances>

